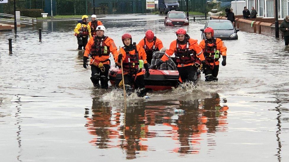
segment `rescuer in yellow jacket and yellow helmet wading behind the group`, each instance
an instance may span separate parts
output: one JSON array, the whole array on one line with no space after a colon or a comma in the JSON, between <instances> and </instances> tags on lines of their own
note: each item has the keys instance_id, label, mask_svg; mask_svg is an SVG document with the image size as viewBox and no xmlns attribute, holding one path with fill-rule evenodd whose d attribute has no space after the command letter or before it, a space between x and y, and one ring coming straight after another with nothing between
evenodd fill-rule
<instances>
[{"instance_id":1,"label":"rescuer in yellow jacket and yellow helmet wading behind the group","mask_svg":"<svg viewBox=\"0 0 289 162\"><path fill-rule=\"evenodd\" d=\"M78 50L82 50L82 47L85 50L87 39L88 37L91 38L91 31L90 26L87 24L88 16L83 15L81 19L74 29L74 35L77 37Z\"/></svg>"}]
</instances>

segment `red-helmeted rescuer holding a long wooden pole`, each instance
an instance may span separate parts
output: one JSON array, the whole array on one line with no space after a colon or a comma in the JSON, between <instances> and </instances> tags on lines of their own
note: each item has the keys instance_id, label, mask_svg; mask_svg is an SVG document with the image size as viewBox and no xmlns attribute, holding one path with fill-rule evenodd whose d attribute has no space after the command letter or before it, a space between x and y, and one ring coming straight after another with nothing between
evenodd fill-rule
<instances>
[{"instance_id":1,"label":"red-helmeted rescuer holding a long wooden pole","mask_svg":"<svg viewBox=\"0 0 289 162\"><path fill-rule=\"evenodd\" d=\"M121 65L121 60L123 60L123 74L124 74L124 84L128 95L132 92L132 86L134 89L139 89L137 91L137 96L143 97L147 94L145 91L145 77L142 72L142 64L145 68L146 77L150 76L149 67L147 65L147 55L144 48L136 45L132 42L131 35L125 33L122 35L121 40L124 46L120 49L120 54L118 58L115 57L115 63Z\"/></svg>"}]
</instances>

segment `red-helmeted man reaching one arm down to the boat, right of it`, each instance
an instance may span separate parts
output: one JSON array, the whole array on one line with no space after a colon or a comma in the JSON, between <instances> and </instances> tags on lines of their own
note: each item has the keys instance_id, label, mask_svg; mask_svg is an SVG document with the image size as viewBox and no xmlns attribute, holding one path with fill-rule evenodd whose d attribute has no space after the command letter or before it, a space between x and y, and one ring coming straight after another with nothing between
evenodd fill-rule
<instances>
[{"instance_id":1,"label":"red-helmeted man reaching one arm down to the boat, right of it","mask_svg":"<svg viewBox=\"0 0 289 162\"><path fill-rule=\"evenodd\" d=\"M176 62L178 63L179 81L181 83L186 81L196 83L197 68L200 66L200 61L205 61L203 50L198 45L198 40L190 38L183 28L178 29L175 33L178 38L171 42L170 48L166 50L161 60L153 66L153 69L157 69L171 55L175 54Z\"/></svg>"}]
</instances>

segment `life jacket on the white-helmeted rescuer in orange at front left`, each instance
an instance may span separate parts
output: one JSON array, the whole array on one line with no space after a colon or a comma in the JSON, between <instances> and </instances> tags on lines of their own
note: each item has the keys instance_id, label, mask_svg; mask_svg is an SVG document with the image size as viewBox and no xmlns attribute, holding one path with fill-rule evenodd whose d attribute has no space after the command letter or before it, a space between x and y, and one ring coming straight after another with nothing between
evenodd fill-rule
<instances>
[{"instance_id":1,"label":"life jacket on the white-helmeted rescuer in orange at front left","mask_svg":"<svg viewBox=\"0 0 289 162\"><path fill-rule=\"evenodd\" d=\"M96 35L93 36L94 43L91 46L91 57L94 59L95 56L109 56L110 50L109 46L105 44L105 40L108 37L99 38ZM105 61L106 62L106 61Z\"/></svg>"}]
</instances>

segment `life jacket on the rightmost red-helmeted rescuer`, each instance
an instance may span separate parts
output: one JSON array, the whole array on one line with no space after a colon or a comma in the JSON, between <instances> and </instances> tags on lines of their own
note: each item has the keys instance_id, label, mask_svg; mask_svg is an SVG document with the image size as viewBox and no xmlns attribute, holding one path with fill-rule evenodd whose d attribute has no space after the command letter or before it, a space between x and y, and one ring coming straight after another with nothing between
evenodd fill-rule
<instances>
[{"instance_id":1,"label":"life jacket on the rightmost red-helmeted rescuer","mask_svg":"<svg viewBox=\"0 0 289 162\"><path fill-rule=\"evenodd\" d=\"M213 43L210 43L210 44L213 44L212 46L211 45L208 45L208 40L207 38L205 39L205 48L203 49L203 52L204 52L204 56L205 56L205 59L206 61L208 61L208 63L213 63L215 61L218 61L221 54L220 54L220 51L217 50L217 43L216 43L217 39L216 38L213 38ZM215 57L215 54L218 55L216 58Z\"/></svg>"}]
</instances>

